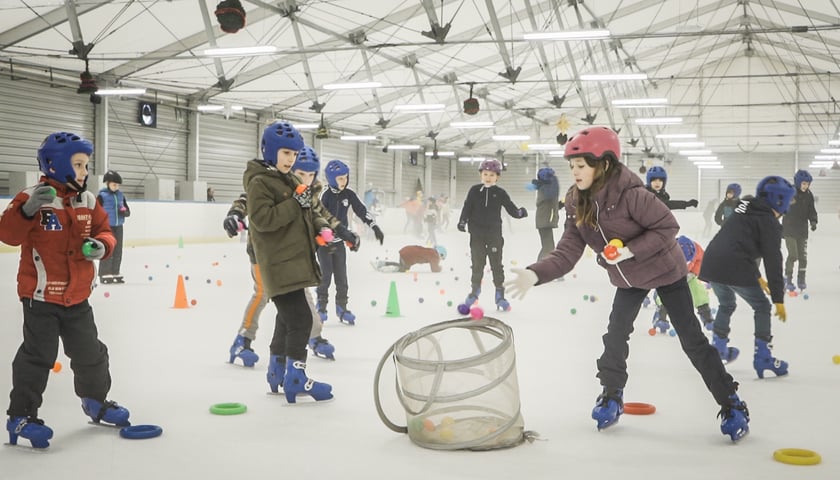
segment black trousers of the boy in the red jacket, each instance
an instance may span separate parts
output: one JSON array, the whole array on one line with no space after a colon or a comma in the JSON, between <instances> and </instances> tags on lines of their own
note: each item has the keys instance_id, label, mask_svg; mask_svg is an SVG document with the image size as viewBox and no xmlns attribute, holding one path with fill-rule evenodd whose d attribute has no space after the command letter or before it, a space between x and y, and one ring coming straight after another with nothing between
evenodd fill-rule
<instances>
[{"instance_id":1,"label":"black trousers of the boy in the red jacket","mask_svg":"<svg viewBox=\"0 0 840 480\"><path fill-rule=\"evenodd\" d=\"M108 347L99 341L93 309L84 302L65 307L23 299L23 343L12 361L9 416L38 415L58 339L70 358L76 395L104 402L111 389Z\"/></svg>"}]
</instances>

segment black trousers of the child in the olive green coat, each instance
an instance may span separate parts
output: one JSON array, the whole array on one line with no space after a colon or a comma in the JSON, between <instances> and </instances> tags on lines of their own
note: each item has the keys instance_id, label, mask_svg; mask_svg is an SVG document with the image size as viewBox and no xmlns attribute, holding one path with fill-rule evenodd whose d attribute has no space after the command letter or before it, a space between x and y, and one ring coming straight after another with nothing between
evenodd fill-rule
<instances>
[{"instance_id":1,"label":"black trousers of the child in the olive green coat","mask_svg":"<svg viewBox=\"0 0 840 480\"><path fill-rule=\"evenodd\" d=\"M306 361L306 345L312 330L312 311L306 303L306 292L295 290L271 297L277 307L274 337L269 350L272 355Z\"/></svg>"}]
</instances>

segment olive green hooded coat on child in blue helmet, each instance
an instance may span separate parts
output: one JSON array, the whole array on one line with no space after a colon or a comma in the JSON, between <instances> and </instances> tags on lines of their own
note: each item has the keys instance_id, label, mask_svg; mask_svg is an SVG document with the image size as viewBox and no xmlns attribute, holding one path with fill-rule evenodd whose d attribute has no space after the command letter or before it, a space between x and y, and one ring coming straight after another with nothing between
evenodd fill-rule
<instances>
[{"instance_id":1,"label":"olive green hooded coat on child in blue helmet","mask_svg":"<svg viewBox=\"0 0 840 480\"><path fill-rule=\"evenodd\" d=\"M315 235L329 222L292 198L300 180L259 160L248 162L242 184L248 194L249 233L269 297L321 282Z\"/></svg>"}]
</instances>

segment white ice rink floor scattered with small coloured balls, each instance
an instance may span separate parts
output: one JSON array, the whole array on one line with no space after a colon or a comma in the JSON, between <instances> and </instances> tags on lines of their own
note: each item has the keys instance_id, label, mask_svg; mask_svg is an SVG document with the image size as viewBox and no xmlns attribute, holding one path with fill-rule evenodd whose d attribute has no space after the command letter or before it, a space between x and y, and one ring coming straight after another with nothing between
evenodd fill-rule
<instances>
[{"instance_id":1,"label":"white ice rink floor scattered with small coloured balls","mask_svg":"<svg viewBox=\"0 0 840 480\"><path fill-rule=\"evenodd\" d=\"M708 243L699 213L678 218L681 233ZM266 394L273 305L263 313L254 343L261 357L257 366L227 363L252 288L243 243L127 248L122 268L127 283L100 285L90 301L110 350L110 398L131 410L134 424L160 425L163 435L126 440L116 429L89 425L73 393L69 359L60 352L64 368L50 374L39 413L55 431L51 446L37 453L3 446L0 479L840 478L840 365L832 363L832 356L840 355L840 221L828 214L820 220L809 242L809 298L787 298L787 323L773 319L774 353L790 362L787 377L756 377L752 312L739 300L733 316L730 345L741 349L741 357L728 370L740 382L752 418L750 435L737 445L721 435L718 406L678 340L648 335L652 308L642 309L631 337L625 401L652 403L657 412L623 415L598 432L590 418L601 390L595 359L614 289L591 252L565 281L536 287L523 301L511 300L510 312L495 312L485 273L480 304L513 327L525 428L538 432L538 441L489 452L434 451L391 432L374 408L377 363L406 333L461 317L447 302L461 303L469 290L468 236L454 224L438 235L449 251L444 272L431 273L428 266L415 267L416 275L374 271L372 260L396 259L402 246L423 243L403 234L400 225L385 229L384 246L367 238L358 253L348 255L355 326L337 321L331 290L323 335L335 345L337 360L310 356L308 362L310 377L333 385L335 399L322 404L300 400L290 406L282 396ZM557 239L561 231L555 230ZM533 262L539 250L533 219L506 226L505 241L506 271ZM17 262L17 253L0 254L0 386L6 391L21 340ZM189 277L187 295L196 302L189 309L172 308L179 274ZM385 316L392 280L399 318ZM404 424L393 379L393 368L386 369L381 391L389 417ZM241 402L248 411L210 414L209 407L220 402ZM810 467L781 464L772 458L780 448L814 450L823 461Z\"/></svg>"}]
</instances>

